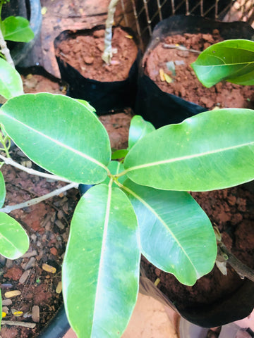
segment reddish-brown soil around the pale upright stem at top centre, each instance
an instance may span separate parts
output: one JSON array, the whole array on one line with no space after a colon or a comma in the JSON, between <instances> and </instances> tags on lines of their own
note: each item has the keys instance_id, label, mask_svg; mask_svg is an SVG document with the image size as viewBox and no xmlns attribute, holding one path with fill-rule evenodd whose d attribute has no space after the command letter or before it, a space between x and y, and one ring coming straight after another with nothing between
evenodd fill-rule
<instances>
[{"instance_id":1,"label":"reddish-brown soil around the pale upright stem at top centre","mask_svg":"<svg viewBox=\"0 0 254 338\"><path fill-rule=\"evenodd\" d=\"M111 65L102 61L104 30L92 35L76 35L59 42L56 56L72 65L81 75L100 82L126 80L138 53L138 48L128 33L120 27L114 29L112 48L116 50Z\"/></svg>"}]
</instances>

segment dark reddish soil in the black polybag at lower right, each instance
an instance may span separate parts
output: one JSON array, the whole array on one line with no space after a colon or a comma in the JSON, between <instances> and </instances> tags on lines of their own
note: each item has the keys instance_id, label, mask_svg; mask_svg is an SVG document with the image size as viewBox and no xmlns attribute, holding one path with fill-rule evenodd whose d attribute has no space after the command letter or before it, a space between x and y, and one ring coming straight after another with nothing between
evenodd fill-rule
<instances>
[{"instance_id":1,"label":"dark reddish soil in the black polybag at lower right","mask_svg":"<svg viewBox=\"0 0 254 338\"><path fill-rule=\"evenodd\" d=\"M212 192L195 192L192 195L207 213L212 225L219 228L227 249L242 263L254 268L254 195L246 189L246 184ZM207 304L219 303L220 299L232 294L242 283L229 265L226 276L215 265L212 272L200 278L193 287L181 284L173 275L155 268L145 258L142 265L152 282L159 278L159 289L179 309L202 308Z\"/></svg>"}]
</instances>

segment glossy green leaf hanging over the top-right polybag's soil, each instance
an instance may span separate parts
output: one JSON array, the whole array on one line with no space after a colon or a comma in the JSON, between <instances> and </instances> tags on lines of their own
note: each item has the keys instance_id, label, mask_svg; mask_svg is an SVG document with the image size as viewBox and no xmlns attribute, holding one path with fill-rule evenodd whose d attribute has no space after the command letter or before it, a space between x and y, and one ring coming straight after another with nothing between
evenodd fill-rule
<instances>
[{"instance_id":1,"label":"glossy green leaf hanging over the top-right polybag's soil","mask_svg":"<svg viewBox=\"0 0 254 338\"><path fill-rule=\"evenodd\" d=\"M191 64L205 87L226 80L236 84L254 84L254 42L244 39L214 44Z\"/></svg>"}]
</instances>

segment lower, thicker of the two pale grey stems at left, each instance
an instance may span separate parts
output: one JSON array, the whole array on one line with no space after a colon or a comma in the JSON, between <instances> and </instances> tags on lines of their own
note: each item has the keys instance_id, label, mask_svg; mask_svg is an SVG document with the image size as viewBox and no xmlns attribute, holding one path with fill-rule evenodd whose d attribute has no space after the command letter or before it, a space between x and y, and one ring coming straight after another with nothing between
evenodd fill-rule
<instances>
[{"instance_id":1,"label":"lower, thicker of the two pale grey stems at left","mask_svg":"<svg viewBox=\"0 0 254 338\"><path fill-rule=\"evenodd\" d=\"M49 192L49 194L45 194L40 197L36 197L35 199L30 199L29 201L25 201L20 204L16 204L15 206L5 206L4 208L0 209L1 213L11 213L13 210L21 209L21 208L27 208L28 206L34 206L35 204L38 204L42 201L45 201L45 199L50 199L53 196L57 196L59 194L62 194L63 192L66 192L69 189L72 188L78 188L78 183L70 183L65 185L64 187L61 187L59 189L54 190L54 192Z\"/></svg>"}]
</instances>

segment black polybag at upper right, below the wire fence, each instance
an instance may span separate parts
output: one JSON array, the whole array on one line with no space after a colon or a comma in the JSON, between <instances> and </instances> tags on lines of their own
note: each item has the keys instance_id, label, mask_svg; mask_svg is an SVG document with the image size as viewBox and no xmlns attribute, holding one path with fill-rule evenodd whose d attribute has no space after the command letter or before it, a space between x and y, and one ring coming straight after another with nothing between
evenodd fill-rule
<instances>
[{"instance_id":1,"label":"black polybag at upper right, below the wire fence","mask_svg":"<svg viewBox=\"0 0 254 338\"><path fill-rule=\"evenodd\" d=\"M212 33L214 29L224 39L254 39L254 30L248 23L222 23L201 16L176 15L162 20L155 26L143 60L165 37L184 33ZM140 61L138 75L138 94L135 114L143 116L155 127L171 123L181 123L184 119L207 111L206 108L181 99L179 96L162 92L150 77L144 73L144 62Z\"/></svg>"}]
</instances>

